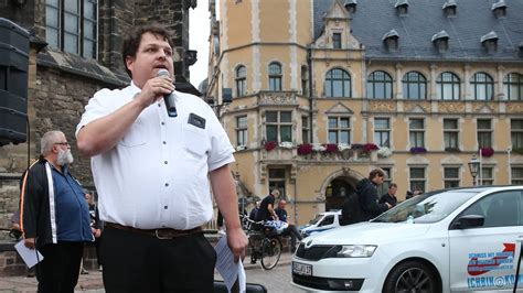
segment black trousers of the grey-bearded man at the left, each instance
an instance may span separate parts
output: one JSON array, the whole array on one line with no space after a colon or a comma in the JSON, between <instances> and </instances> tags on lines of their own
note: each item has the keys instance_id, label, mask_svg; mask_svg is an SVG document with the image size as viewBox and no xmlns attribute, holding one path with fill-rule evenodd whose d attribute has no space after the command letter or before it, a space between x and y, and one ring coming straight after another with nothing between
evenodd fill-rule
<instances>
[{"instance_id":1,"label":"black trousers of the grey-bearded man at the left","mask_svg":"<svg viewBox=\"0 0 523 293\"><path fill-rule=\"evenodd\" d=\"M78 282L83 242L58 241L39 248L44 259L36 264L39 293L74 292Z\"/></svg>"}]
</instances>

